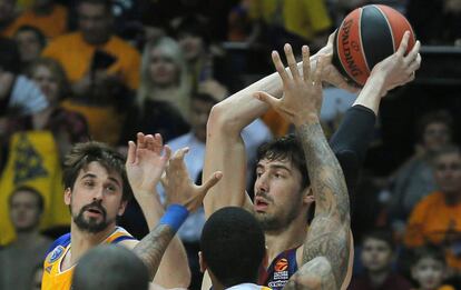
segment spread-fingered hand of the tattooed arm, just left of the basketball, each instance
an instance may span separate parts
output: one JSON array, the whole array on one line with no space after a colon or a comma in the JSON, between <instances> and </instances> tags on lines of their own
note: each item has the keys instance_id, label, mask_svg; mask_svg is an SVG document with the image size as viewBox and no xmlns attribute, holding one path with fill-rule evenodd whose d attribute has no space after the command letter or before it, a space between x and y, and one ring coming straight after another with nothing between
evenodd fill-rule
<instances>
[{"instance_id":1,"label":"spread-fingered hand of the tattooed arm, just left of the basketball","mask_svg":"<svg viewBox=\"0 0 461 290\"><path fill-rule=\"evenodd\" d=\"M297 64L290 44L284 47L292 77L276 51L272 52L272 60L282 78L283 97L277 99L266 92L254 94L261 101L269 104L275 111L295 126L301 126L307 120L317 120L322 107L322 71L325 59L321 57L315 70L311 73L310 52L306 46L303 47L303 77L297 70Z\"/></svg>"}]
</instances>

